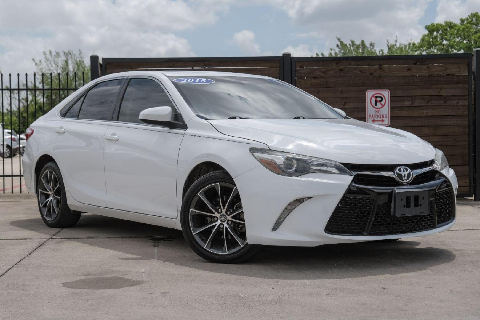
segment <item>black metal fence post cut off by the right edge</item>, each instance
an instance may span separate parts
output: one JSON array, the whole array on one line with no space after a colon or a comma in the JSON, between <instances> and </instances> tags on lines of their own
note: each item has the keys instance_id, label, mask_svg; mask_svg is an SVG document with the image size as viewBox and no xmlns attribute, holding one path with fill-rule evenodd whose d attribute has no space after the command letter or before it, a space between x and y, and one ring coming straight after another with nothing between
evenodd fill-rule
<instances>
[{"instance_id":1,"label":"black metal fence post cut off by the right edge","mask_svg":"<svg viewBox=\"0 0 480 320\"><path fill-rule=\"evenodd\" d=\"M475 158L473 198L480 201L480 48L473 50L473 112L475 114Z\"/></svg>"}]
</instances>

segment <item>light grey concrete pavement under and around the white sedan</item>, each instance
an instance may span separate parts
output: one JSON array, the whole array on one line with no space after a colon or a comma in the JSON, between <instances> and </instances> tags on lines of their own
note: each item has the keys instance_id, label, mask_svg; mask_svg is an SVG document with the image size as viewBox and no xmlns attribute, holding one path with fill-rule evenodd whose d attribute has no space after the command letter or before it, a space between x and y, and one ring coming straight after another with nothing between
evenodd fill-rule
<instances>
[{"instance_id":1,"label":"light grey concrete pavement under and around the white sedan","mask_svg":"<svg viewBox=\"0 0 480 320\"><path fill-rule=\"evenodd\" d=\"M396 243L265 248L213 264L181 232L84 214L46 227L0 196L0 319L479 319L480 204Z\"/></svg>"}]
</instances>

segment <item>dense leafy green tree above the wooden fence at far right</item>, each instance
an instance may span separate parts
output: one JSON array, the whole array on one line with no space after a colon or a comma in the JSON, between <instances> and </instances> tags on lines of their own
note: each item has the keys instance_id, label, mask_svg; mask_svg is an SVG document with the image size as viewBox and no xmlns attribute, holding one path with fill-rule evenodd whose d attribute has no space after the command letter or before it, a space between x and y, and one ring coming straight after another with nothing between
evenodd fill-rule
<instances>
[{"instance_id":1,"label":"dense leafy green tree above the wooden fence at far right","mask_svg":"<svg viewBox=\"0 0 480 320\"><path fill-rule=\"evenodd\" d=\"M473 12L460 23L445 21L425 26L427 33L416 44L422 53L473 52L480 47L480 13Z\"/></svg>"}]
</instances>

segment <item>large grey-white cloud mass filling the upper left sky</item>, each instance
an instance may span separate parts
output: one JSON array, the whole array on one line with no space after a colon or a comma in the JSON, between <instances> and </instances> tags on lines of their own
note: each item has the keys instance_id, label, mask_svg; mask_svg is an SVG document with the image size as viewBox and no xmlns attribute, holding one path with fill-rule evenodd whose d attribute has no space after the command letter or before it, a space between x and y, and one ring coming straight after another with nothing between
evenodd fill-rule
<instances>
[{"instance_id":1,"label":"large grey-white cloud mass filling the upper left sky","mask_svg":"<svg viewBox=\"0 0 480 320\"><path fill-rule=\"evenodd\" d=\"M49 49L80 48L103 57L195 56L175 32L214 24L227 10L227 0L1 0L0 68L32 72L31 59Z\"/></svg>"}]
</instances>

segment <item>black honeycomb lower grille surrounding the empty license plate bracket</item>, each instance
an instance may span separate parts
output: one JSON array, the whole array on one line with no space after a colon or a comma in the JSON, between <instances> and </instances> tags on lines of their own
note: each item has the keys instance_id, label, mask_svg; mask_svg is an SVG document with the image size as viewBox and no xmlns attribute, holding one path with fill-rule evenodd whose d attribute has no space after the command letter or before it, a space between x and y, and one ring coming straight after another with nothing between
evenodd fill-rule
<instances>
[{"instance_id":1,"label":"black honeycomb lower grille surrounding the empty license plate bracket","mask_svg":"<svg viewBox=\"0 0 480 320\"><path fill-rule=\"evenodd\" d=\"M436 175L434 179L427 184L431 188L434 184L428 214L397 217L392 213L393 189L377 193L353 187L338 203L325 231L335 235L384 236L425 231L450 223L455 217L452 188L445 178Z\"/></svg>"}]
</instances>

